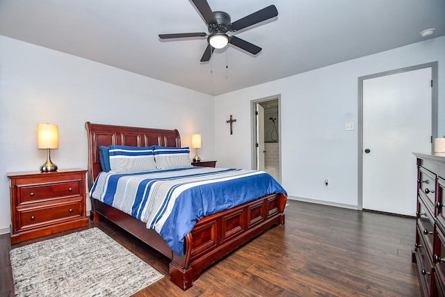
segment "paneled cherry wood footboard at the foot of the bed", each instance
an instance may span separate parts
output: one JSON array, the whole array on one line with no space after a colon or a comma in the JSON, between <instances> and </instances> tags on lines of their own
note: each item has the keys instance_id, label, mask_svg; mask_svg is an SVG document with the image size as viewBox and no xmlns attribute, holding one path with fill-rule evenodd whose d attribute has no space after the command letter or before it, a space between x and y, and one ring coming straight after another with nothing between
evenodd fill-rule
<instances>
[{"instance_id":1,"label":"paneled cherry wood footboard at the foot of the bed","mask_svg":"<svg viewBox=\"0 0 445 297\"><path fill-rule=\"evenodd\" d=\"M186 236L185 255L173 254L170 280L186 290L201 271L273 225L284 224L286 195L273 194L198 221Z\"/></svg>"}]
</instances>

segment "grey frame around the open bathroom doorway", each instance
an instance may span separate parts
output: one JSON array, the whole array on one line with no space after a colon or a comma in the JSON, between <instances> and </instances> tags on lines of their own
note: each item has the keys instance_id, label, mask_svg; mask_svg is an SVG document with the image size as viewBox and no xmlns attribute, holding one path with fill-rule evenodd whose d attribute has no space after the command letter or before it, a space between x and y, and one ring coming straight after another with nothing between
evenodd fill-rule
<instances>
[{"instance_id":1,"label":"grey frame around the open bathroom doorway","mask_svg":"<svg viewBox=\"0 0 445 297\"><path fill-rule=\"evenodd\" d=\"M278 135L280 136L280 141L278 142L278 163L280 164L280 180L277 182L281 182L282 179L282 166L281 166L281 145L282 145L282 135L281 135L281 95L273 95L268 96L260 99L254 99L250 101L250 143L252 144L252 159L251 159L251 168L257 170L257 117L256 117L256 111L257 107L256 105L261 102L266 101L272 101L272 100L278 100Z\"/></svg>"}]
</instances>

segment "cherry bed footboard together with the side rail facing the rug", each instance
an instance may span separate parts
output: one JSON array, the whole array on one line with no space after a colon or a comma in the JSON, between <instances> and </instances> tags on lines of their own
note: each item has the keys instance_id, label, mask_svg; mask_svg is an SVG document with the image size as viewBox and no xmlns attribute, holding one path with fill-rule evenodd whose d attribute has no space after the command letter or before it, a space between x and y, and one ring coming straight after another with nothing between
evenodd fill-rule
<instances>
[{"instance_id":1,"label":"cherry bed footboard together with the side rail facing the rug","mask_svg":"<svg viewBox=\"0 0 445 297\"><path fill-rule=\"evenodd\" d=\"M170 280L186 290L204 268L261 232L284 224L286 195L273 194L202 218L187 234L184 256L176 255L154 230L124 212L92 199L93 220L104 216L171 259Z\"/></svg>"}]
</instances>

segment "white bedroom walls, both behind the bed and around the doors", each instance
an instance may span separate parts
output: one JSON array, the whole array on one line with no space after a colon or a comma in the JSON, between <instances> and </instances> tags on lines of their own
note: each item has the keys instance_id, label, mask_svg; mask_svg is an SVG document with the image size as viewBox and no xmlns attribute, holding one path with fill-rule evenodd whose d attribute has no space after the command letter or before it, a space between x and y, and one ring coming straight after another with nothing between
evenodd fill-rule
<instances>
[{"instance_id":1,"label":"white bedroom walls, both behind the bed and around the doors","mask_svg":"<svg viewBox=\"0 0 445 297\"><path fill-rule=\"evenodd\" d=\"M316 57L314 57L316 58ZM439 135L445 134L445 37L215 97L0 36L0 233L9 232L6 172L38 170L37 124L59 125L59 168L87 167L86 121L202 134L202 159L251 167L251 100L281 95L282 184L290 196L357 206L358 77L439 61ZM442 81L442 83L440 83ZM198 107L197 107L198 106ZM226 120L233 115L234 134ZM213 118L214 115L214 118ZM214 133L214 134L213 134ZM331 180L326 189L323 181Z\"/></svg>"}]
</instances>

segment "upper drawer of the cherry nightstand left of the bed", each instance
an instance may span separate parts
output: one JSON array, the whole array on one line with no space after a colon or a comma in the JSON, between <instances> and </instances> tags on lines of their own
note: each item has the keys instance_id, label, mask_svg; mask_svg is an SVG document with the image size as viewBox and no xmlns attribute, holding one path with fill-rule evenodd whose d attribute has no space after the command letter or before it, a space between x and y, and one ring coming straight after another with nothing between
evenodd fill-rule
<instances>
[{"instance_id":1,"label":"upper drawer of the cherry nightstand left of the bed","mask_svg":"<svg viewBox=\"0 0 445 297\"><path fill-rule=\"evenodd\" d=\"M20 195L18 204L36 202L38 200L51 200L59 197L79 196L81 180L74 182L57 182L53 184L33 184L18 186Z\"/></svg>"}]
</instances>

